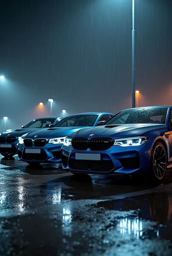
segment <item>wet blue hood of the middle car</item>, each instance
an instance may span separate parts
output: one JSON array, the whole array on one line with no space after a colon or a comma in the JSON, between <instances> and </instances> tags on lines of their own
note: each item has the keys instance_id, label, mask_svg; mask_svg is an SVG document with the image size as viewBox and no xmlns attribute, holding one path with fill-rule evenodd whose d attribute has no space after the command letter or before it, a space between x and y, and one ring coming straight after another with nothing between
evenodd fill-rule
<instances>
[{"instance_id":1,"label":"wet blue hood of the middle car","mask_svg":"<svg viewBox=\"0 0 172 256\"><path fill-rule=\"evenodd\" d=\"M82 129L83 127L54 127L49 128L46 130L41 131L35 131L28 133L25 138L46 138L46 139L52 139L52 138L60 138L65 137L70 133L73 133L74 131L78 131L79 129Z\"/></svg>"}]
</instances>

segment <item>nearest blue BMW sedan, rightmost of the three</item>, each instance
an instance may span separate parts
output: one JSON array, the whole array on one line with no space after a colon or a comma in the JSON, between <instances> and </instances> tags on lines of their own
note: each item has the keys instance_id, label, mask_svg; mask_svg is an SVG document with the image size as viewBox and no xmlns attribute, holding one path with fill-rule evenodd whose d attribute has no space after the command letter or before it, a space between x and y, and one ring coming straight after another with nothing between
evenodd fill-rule
<instances>
[{"instance_id":1,"label":"nearest blue BMW sedan, rightmost of the three","mask_svg":"<svg viewBox=\"0 0 172 256\"><path fill-rule=\"evenodd\" d=\"M73 174L148 174L163 179L172 166L172 107L119 112L103 126L68 135L62 166Z\"/></svg>"}]
</instances>

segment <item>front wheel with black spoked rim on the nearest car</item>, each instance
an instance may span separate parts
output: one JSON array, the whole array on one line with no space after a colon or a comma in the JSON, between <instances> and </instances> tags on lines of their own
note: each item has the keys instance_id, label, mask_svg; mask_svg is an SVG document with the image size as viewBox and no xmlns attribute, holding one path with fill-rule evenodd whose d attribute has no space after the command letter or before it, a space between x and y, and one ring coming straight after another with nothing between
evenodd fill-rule
<instances>
[{"instance_id":1,"label":"front wheel with black spoked rim on the nearest car","mask_svg":"<svg viewBox=\"0 0 172 256\"><path fill-rule=\"evenodd\" d=\"M150 178L153 181L163 179L167 170L167 152L162 143L157 142L152 148L150 159Z\"/></svg>"}]
</instances>

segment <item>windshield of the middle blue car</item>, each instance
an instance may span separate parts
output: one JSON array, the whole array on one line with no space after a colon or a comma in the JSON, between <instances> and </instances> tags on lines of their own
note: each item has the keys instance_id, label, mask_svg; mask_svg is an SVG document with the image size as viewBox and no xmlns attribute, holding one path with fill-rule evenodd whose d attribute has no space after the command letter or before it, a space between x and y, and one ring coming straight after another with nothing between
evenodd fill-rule
<instances>
[{"instance_id":1,"label":"windshield of the middle blue car","mask_svg":"<svg viewBox=\"0 0 172 256\"><path fill-rule=\"evenodd\" d=\"M72 115L66 117L54 127L89 127L93 126L97 115Z\"/></svg>"}]
</instances>

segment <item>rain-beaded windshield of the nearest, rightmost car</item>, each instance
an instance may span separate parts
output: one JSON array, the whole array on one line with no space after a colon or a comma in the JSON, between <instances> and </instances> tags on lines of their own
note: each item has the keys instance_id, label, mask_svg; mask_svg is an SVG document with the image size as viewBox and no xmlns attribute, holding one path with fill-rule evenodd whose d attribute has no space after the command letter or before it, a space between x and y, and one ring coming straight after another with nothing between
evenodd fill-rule
<instances>
[{"instance_id":1,"label":"rain-beaded windshield of the nearest, rightmost car","mask_svg":"<svg viewBox=\"0 0 172 256\"><path fill-rule=\"evenodd\" d=\"M142 109L123 110L106 125L124 125L132 123L165 123L168 108L152 107Z\"/></svg>"}]
</instances>

